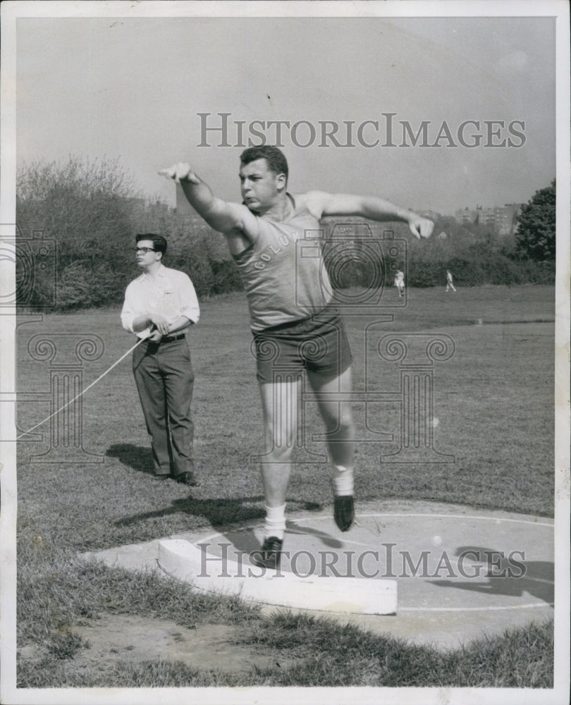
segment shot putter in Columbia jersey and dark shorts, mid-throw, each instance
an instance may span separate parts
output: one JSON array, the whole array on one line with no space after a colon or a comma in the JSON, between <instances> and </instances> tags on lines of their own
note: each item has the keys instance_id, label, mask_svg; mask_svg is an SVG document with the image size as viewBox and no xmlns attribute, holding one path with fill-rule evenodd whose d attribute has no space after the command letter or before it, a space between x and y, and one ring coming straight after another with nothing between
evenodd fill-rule
<instances>
[{"instance_id":1,"label":"shot putter in Columbia jersey and dark shorts, mid-throw","mask_svg":"<svg viewBox=\"0 0 571 705\"><path fill-rule=\"evenodd\" d=\"M285 530L285 496L297 435L301 375L307 374L324 419L333 460L333 517L340 531L352 525L355 431L348 403L338 394L351 389L350 348L343 321L333 304L331 285L318 247L302 257L299 241L316 238L323 216L364 216L374 221L405 221L417 238L433 223L377 197L287 191L288 163L277 147L251 147L240 155L242 203L215 197L185 163L160 173L178 179L192 207L214 230L226 235L242 274L257 356L266 458L262 481L266 505L264 542L251 559L276 568ZM307 238L307 239L306 239ZM275 353L268 355L268 352ZM299 374L284 381L274 364Z\"/></svg>"}]
</instances>

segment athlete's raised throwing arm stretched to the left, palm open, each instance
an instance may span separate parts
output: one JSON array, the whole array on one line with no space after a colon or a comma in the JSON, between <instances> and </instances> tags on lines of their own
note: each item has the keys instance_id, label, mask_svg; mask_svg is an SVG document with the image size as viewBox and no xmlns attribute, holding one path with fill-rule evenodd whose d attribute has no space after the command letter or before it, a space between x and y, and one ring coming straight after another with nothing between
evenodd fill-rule
<instances>
[{"instance_id":1,"label":"athlete's raised throwing arm stretched to the left, palm open","mask_svg":"<svg viewBox=\"0 0 571 705\"><path fill-rule=\"evenodd\" d=\"M238 228L245 231L245 219L250 211L238 203L228 203L217 198L209 185L199 178L189 164L179 162L159 171L161 176L180 181L192 208L220 233L230 233Z\"/></svg>"}]
</instances>

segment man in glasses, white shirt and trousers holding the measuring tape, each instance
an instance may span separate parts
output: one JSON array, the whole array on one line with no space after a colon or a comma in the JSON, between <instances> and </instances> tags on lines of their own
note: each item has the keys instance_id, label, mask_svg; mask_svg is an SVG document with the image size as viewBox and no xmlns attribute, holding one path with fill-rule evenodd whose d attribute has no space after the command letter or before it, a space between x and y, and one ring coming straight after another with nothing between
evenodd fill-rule
<instances>
[{"instance_id":1,"label":"man in glasses, white shirt and trousers holding the measuring tape","mask_svg":"<svg viewBox=\"0 0 571 705\"><path fill-rule=\"evenodd\" d=\"M162 263L165 238L145 233L135 240L142 274L125 290L121 323L143 339L133 350L133 374L151 436L154 477L192 486L195 376L185 333L198 322L198 300L188 275Z\"/></svg>"}]
</instances>

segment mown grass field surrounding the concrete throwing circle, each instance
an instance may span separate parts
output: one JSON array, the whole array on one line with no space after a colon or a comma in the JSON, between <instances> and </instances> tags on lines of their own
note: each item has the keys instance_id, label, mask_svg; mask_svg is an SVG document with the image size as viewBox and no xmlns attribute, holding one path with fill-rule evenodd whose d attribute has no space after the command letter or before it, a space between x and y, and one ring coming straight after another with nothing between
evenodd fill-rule
<instances>
[{"instance_id":1,"label":"mown grass field surrounding the concrete throwing circle","mask_svg":"<svg viewBox=\"0 0 571 705\"><path fill-rule=\"evenodd\" d=\"M391 292L392 293L392 292ZM389 293L389 294L391 294ZM396 296L396 294L394 294ZM410 290L394 321L348 315L354 355L355 390L398 390L398 364L374 358L385 332L444 333L455 353L434 367L434 446L455 462L403 466L380 462L396 443L360 443L356 494L367 500L419 499L462 503L520 513L553 515L553 319L552 287L489 287ZM49 391L49 364L27 352L37 333L70 345L76 336L104 341L102 357L84 363L87 386L133 345L122 331L118 310L47 315L41 323L20 319L18 391ZM366 326L376 338L364 337ZM379 333L380 331L380 333ZM49 448L42 442L18 448L18 646L35 646L34 658L20 656L20 687L69 685L450 685L549 687L552 682L551 625L530 627L473 648L443 654L396 644L355 629L293 615L262 618L236 599L192 594L181 584L168 589L148 575L85 565L81 551L137 543L191 529L260 519L263 497L250 455L262 447L254 361L247 307L241 294L203 302L192 330L195 368L195 461L202 484L190 493L175 483L152 479L149 443L130 360L124 360L82 400L86 460L30 462ZM374 359L367 367L366 360ZM379 362L379 364L377 364ZM312 433L321 426L307 407ZM22 403L20 432L49 414L48 401ZM390 404L368 410L355 404L357 429L398 433L398 410ZM323 452L309 439L312 451ZM305 459L300 450L301 460ZM405 472L403 471L405 468ZM288 510L322 510L331 505L326 465L300 462L288 492ZM358 510L357 510L358 511ZM291 668L253 668L238 676L198 672L177 664L126 663L106 670L78 670L75 656L87 645L74 625L102 615L144 614L180 625L240 623L243 643L271 650ZM311 640L309 639L311 635ZM311 643L309 643L311 642ZM33 650L33 649L32 649ZM310 655L312 654L312 655ZM391 655L389 658L388 654ZM398 654L393 658L394 654ZM327 682L331 664L339 682ZM343 668L339 664L343 663ZM551 664L551 665L550 665Z\"/></svg>"}]
</instances>

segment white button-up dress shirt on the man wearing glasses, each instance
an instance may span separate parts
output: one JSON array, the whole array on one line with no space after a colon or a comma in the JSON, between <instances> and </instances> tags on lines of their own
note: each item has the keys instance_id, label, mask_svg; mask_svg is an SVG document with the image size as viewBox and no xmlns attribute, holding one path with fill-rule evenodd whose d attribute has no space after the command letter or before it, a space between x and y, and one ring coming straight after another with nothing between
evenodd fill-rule
<instances>
[{"instance_id":1,"label":"white button-up dress shirt on the man wearing glasses","mask_svg":"<svg viewBox=\"0 0 571 705\"><path fill-rule=\"evenodd\" d=\"M125 302L121 311L121 324L130 333L133 321L140 316L160 314L167 323L173 324L179 316L197 323L200 309L195 288L187 274L178 269L169 269L161 264L153 276L141 274L125 290ZM146 338L151 326L137 331L139 338Z\"/></svg>"}]
</instances>

